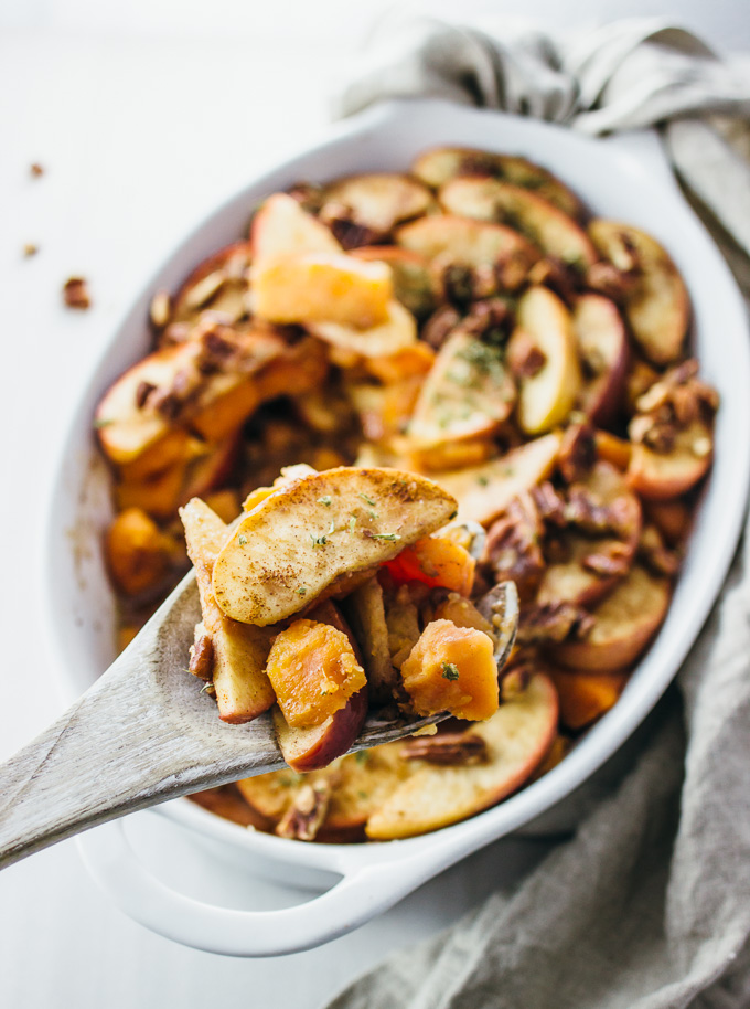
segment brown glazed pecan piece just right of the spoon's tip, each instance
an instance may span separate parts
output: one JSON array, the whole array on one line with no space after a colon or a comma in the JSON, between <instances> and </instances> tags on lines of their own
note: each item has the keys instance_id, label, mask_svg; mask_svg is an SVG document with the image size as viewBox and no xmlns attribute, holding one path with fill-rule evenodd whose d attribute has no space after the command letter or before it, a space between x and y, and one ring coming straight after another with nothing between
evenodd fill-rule
<instances>
[{"instance_id":1,"label":"brown glazed pecan piece just right of the spoon's tip","mask_svg":"<svg viewBox=\"0 0 750 1009\"><path fill-rule=\"evenodd\" d=\"M518 495L488 532L484 562L494 582L513 581L521 597L529 598L544 574L543 535L544 524L534 498L527 492Z\"/></svg>"}]
</instances>

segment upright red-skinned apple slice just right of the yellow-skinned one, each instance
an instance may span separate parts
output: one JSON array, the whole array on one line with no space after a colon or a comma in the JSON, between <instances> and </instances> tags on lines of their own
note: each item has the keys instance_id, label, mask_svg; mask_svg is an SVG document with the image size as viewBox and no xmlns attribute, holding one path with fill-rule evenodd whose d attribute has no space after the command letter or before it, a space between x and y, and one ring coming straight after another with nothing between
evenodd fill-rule
<instances>
[{"instance_id":1,"label":"upright red-skinned apple slice just right of the yellow-skinned one","mask_svg":"<svg viewBox=\"0 0 750 1009\"><path fill-rule=\"evenodd\" d=\"M625 394L630 349L622 316L614 301L586 294L576 299L572 328L586 375L578 406L593 424L607 426Z\"/></svg>"}]
</instances>

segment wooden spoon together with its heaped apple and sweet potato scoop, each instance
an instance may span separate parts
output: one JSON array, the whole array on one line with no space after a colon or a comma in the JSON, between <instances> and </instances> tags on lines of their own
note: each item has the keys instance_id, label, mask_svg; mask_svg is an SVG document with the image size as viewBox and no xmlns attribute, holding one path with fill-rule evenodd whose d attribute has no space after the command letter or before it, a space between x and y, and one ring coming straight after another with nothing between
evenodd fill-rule
<instances>
[{"instance_id":1,"label":"wooden spoon together with its heaped apple and sweet potato scoop","mask_svg":"<svg viewBox=\"0 0 750 1009\"><path fill-rule=\"evenodd\" d=\"M517 595L472 601L482 531L451 525L456 508L424 477L357 467L289 467L232 525L190 501L194 571L0 765L0 868L181 795L494 714Z\"/></svg>"}]
</instances>

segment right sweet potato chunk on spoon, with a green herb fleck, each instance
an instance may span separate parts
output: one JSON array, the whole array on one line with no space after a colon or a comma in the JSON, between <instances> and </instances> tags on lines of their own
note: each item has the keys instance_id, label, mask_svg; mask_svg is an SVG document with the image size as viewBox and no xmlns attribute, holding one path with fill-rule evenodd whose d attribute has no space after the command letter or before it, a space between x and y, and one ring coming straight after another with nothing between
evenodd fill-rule
<instances>
[{"instance_id":1,"label":"right sweet potato chunk on spoon, with a green herb fleck","mask_svg":"<svg viewBox=\"0 0 750 1009\"><path fill-rule=\"evenodd\" d=\"M432 620L401 666L404 688L419 714L450 711L482 721L497 710L497 667L488 635Z\"/></svg>"}]
</instances>

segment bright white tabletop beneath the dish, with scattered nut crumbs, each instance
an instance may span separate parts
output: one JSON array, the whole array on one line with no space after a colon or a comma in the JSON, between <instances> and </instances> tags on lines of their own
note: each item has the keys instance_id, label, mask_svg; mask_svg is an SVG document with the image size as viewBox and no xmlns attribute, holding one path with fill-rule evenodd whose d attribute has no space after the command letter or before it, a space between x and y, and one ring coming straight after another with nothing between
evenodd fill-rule
<instances>
[{"instance_id":1,"label":"bright white tabletop beneath the dish, with scattered nut crumbs","mask_svg":"<svg viewBox=\"0 0 750 1009\"><path fill-rule=\"evenodd\" d=\"M39 530L77 390L175 241L258 170L314 138L326 121L334 74L363 24L385 7L0 3L0 758L62 707L39 609ZM557 0L526 7L560 20ZM607 8L612 17L660 10L647 2ZM714 4L708 36L750 45L743 8L740 0ZM697 2L681 9L694 25L709 18ZM30 177L32 161L45 167L41 179ZM40 252L24 259L28 242ZM61 286L77 273L90 282L88 312L61 306ZM204 841L154 814L133 817L131 830L164 878L196 896L247 907L301 896L254 878L236 856L207 858ZM321 1006L389 950L454 921L490 885L512 885L547 848L500 842L325 947L280 960L232 960L180 947L126 918L67 841L0 875L0 1006Z\"/></svg>"}]
</instances>

